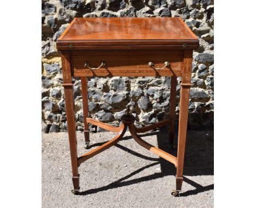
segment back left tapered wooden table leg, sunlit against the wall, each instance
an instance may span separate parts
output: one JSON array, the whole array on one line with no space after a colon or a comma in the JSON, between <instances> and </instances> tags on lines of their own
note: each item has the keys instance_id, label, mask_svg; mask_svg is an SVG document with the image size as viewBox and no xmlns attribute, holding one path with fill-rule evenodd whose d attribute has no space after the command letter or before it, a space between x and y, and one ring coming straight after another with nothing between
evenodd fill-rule
<instances>
[{"instance_id":1,"label":"back left tapered wooden table leg, sunlit against the wall","mask_svg":"<svg viewBox=\"0 0 256 208\"><path fill-rule=\"evenodd\" d=\"M82 99L83 99L83 113L84 113L84 138L85 138L85 149L90 148L90 134L89 126L86 122L88 118L88 89L87 89L87 77L81 77L82 84Z\"/></svg>"}]
</instances>

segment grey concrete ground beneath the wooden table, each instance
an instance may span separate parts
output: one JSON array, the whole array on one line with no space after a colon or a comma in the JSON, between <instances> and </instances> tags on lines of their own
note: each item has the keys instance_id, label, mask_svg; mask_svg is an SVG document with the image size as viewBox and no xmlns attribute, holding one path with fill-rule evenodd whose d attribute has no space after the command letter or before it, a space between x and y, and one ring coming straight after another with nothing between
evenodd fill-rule
<instances>
[{"instance_id":1,"label":"grey concrete ground beneath the wooden table","mask_svg":"<svg viewBox=\"0 0 256 208\"><path fill-rule=\"evenodd\" d=\"M92 148L115 133L91 133ZM85 150L77 132L78 152ZM168 148L167 131L142 134ZM172 197L176 168L139 146L127 131L123 140L81 164L80 194L73 195L68 134L42 133L42 207L213 207L213 132L188 131L181 197Z\"/></svg>"}]
</instances>

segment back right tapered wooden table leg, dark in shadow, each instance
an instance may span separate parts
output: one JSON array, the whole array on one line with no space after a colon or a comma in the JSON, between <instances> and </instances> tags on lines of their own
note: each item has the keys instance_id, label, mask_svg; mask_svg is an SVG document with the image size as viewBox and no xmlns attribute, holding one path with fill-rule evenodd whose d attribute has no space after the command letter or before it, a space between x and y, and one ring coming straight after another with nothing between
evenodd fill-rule
<instances>
[{"instance_id":1,"label":"back right tapered wooden table leg, dark in shadow","mask_svg":"<svg viewBox=\"0 0 256 208\"><path fill-rule=\"evenodd\" d=\"M174 146L174 120L175 120L175 106L176 106L176 87L177 87L177 77L171 77L171 90L170 90L170 114L169 118L171 120L170 130L169 130L169 140L172 149L176 149Z\"/></svg>"}]
</instances>

